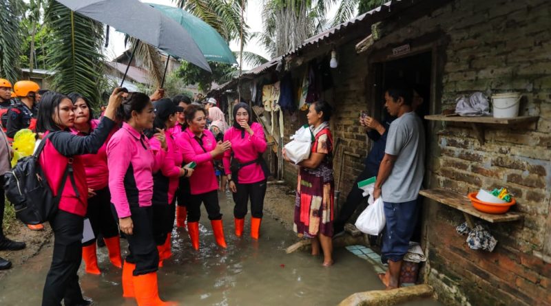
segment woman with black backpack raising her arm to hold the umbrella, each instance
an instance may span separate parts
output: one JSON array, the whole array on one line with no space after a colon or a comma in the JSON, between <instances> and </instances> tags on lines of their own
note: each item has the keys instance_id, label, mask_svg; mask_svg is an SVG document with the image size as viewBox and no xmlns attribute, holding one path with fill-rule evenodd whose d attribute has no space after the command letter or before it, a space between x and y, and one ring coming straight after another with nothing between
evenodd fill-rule
<instances>
[{"instance_id":1,"label":"woman with black backpack raising her arm to hold the umbrella","mask_svg":"<svg viewBox=\"0 0 551 306\"><path fill-rule=\"evenodd\" d=\"M46 182L55 196L61 192L58 211L50 220L54 231L54 255L44 285L42 305L90 305L85 300L76 272L81 265L83 220L87 209L88 188L81 155L97 153L110 131L121 104L120 88L113 91L105 116L87 136L69 132L74 126L73 103L67 96L50 91L42 97L37 129L44 133L39 163Z\"/></svg>"}]
</instances>

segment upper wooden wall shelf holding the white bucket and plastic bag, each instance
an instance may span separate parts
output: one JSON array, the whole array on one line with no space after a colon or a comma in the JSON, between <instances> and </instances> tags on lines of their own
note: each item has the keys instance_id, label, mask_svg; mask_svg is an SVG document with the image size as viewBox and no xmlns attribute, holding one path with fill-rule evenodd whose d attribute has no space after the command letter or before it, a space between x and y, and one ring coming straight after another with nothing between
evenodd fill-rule
<instances>
[{"instance_id":1,"label":"upper wooden wall shelf holding the white bucket and plastic bag","mask_svg":"<svg viewBox=\"0 0 551 306\"><path fill-rule=\"evenodd\" d=\"M517 124L535 123L539 120L539 116L521 116L516 118L493 118L492 116L481 117L461 117L461 116L444 116L444 115L428 115L426 120L457 122L470 124L472 130L475 131L480 144L484 144L485 136L482 126L490 125L493 127L509 127Z\"/></svg>"}]
</instances>

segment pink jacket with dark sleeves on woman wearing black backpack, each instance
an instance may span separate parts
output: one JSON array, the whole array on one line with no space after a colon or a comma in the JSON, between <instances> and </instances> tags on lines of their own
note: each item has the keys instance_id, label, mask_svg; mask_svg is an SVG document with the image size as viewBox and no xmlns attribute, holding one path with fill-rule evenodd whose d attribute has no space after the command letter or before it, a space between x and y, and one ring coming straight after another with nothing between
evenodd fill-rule
<instances>
[{"instance_id":1,"label":"pink jacket with dark sleeves on woman wearing black backpack","mask_svg":"<svg viewBox=\"0 0 551 306\"><path fill-rule=\"evenodd\" d=\"M98 127L85 137L72 135L68 131L56 133L48 138L43 151L39 156L39 163L44 171L48 185L52 188L54 197L65 173L65 167L72 162L73 177L76 188L73 187L70 177L67 177L59 201L59 209L84 217L88 205L88 186L84 162L81 155L95 154L101 148L107 135L115 126L109 118L103 118ZM45 135L50 132L47 131ZM75 193L79 193L78 196Z\"/></svg>"}]
</instances>

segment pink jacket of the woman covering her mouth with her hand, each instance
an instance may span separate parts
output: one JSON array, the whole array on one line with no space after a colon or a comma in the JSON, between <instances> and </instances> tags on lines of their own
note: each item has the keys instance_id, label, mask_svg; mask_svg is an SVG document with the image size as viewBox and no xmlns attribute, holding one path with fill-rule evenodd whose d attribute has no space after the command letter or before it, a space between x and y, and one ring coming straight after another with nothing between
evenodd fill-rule
<instances>
[{"instance_id":1,"label":"pink jacket of the woman covering her mouth with her hand","mask_svg":"<svg viewBox=\"0 0 551 306\"><path fill-rule=\"evenodd\" d=\"M126 122L107 144L111 202L119 218L132 215L130 206L152 205L153 176L165 153L154 151L147 137Z\"/></svg>"}]
</instances>

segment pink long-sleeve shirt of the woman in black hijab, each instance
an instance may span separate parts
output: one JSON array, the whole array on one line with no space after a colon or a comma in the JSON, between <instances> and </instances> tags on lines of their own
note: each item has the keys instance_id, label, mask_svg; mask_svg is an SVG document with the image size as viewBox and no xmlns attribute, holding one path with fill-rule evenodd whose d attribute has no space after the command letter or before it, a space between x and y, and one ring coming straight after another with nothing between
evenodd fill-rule
<instances>
[{"instance_id":1,"label":"pink long-sleeve shirt of the woman in black hijab","mask_svg":"<svg viewBox=\"0 0 551 306\"><path fill-rule=\"evenodd\" d=\"M253 130L252 136L246 131L241 131L235 127L231 127L224 134L224 141L229 140L231 142L231 149L224 153L223 159L224 171L227 175L231 174L229 170L231 153L233 153L233 157L240 164L245 164L258 159L258 155L266 151L267 144L262 125L258 122L253 122L251 130ZM264 171L262 171L262 166L254 163L240 168L237 179L239 184L253 184L263 181L266 179L266 176L264 175Z\"/></svg>"}]
</instances>

